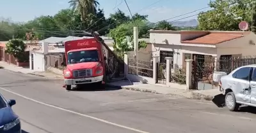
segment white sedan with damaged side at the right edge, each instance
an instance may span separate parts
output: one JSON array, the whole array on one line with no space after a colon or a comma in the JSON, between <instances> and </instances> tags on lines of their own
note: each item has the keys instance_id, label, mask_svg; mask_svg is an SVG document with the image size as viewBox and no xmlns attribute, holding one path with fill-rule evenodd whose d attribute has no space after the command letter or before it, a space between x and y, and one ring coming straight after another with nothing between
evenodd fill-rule
<instances>
[{"instance_id":1,"label":"white sedan with damaged side at the right edge","mask_svg":"<svg viewBox=\"0 0 256 133\"><path fill-rule=\"evenodd\" d=\"M230 111L236 111L241 104L256 107L256 65L239 67L222 76L220 87Z\"/></svg>"}]
</instances>

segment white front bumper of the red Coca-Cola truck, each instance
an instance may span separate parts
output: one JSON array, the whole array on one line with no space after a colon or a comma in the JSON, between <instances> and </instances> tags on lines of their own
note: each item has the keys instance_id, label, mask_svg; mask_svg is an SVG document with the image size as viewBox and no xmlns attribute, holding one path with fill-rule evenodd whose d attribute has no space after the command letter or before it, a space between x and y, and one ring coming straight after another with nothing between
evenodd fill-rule
<instances>
[{"instance_id":1,"label":"white front bumper of the red Coca-Cola truck","mask_svg":"<svg viewBox=\"0 0 256 133\"><path fill-rule=\"evenodd\" d=\"M95 76L89 78L76 78L76 79L65 79L65 85L79 85L84 83L96 83L103 80L102 76Z\"/></svg>"}]
</instances>

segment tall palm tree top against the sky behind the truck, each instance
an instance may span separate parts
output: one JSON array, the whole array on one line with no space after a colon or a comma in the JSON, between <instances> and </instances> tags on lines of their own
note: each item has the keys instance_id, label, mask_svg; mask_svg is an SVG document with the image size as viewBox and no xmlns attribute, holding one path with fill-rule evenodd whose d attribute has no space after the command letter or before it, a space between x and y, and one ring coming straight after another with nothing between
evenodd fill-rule
<instances>
[{"instance_id":1,"label":"tall palm tree top against the sky behind the truck","mask_svg":"<svg viewBox=\"0 0 256 133\"><path fill-rule=\"evenodd\" d=\"M81 15L82 20L90 13L96 13L96 8L99 5L97 0L70 0L68 3L70 3L72 11L77 11Z\"/></svg>"}]
</instances>

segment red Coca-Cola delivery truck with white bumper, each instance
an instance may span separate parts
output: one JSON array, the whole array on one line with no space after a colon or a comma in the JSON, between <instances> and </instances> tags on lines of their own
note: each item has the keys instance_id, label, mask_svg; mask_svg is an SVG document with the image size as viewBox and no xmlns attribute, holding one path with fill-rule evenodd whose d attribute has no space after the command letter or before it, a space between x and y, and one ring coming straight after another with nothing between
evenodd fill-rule
<instances>
[{"instance_id":1,"label":"red Coca-Cola delivery truck with white bumper","mask_svg":"<svg viewBox=\"0 0 256 133\"><path fill-rule=\"evenodd\" d=\"M104 84L105 60L102 45L95 38L67 41L65 58L67 67L63 71L66 90L71 85Z\"/></svg>"}]
</instances>

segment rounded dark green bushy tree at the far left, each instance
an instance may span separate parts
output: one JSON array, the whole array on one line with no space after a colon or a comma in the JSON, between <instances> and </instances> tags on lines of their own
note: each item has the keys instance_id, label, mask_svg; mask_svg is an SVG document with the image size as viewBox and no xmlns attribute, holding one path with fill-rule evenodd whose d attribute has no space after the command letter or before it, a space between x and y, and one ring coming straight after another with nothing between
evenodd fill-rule
<instances>
[{"instance_id":1,"label":"rounded dark green bushy tree at the far left","mask_svg":"<svg viewBox=\"0 0 256 133\"><path fill-rule=\"evenodd\" d=\"M24 50L26 48L25 43L22 39L10 39L8 43L6 43L5 52L13 55L18 60L24 60Z\"/></svg>"}]
</instances>

